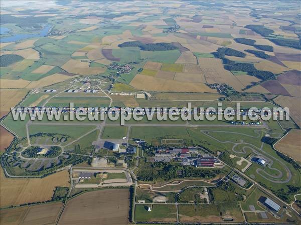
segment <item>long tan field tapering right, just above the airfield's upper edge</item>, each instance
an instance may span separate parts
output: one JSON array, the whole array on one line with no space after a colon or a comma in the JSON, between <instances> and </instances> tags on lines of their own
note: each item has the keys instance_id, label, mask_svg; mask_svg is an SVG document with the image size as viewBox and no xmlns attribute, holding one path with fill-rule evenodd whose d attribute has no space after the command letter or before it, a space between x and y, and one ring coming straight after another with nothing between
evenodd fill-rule
<instances>
[{"instance_id":1,"label":"long tan field tapering right, just above the airfield's upper edge","mask_svg":"<svg viewBox=\"0 0 301 225\"><path fill-rule=\"evenodd\" d=\"M138 74L130 82L130 85L145 91L174 91L174 92L209 92L216 93L216 90L205 84L194 84L180 81L172 81L152 76Z\"/></svg>"}]
</instances>

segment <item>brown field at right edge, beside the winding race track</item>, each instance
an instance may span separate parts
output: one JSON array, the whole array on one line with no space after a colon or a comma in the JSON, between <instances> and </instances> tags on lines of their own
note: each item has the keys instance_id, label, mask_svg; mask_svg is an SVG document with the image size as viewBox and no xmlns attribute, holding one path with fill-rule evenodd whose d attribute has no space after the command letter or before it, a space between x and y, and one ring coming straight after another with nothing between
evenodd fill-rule
<instances>
[{"instance_id":1,"label":"brown field at right edge, beside the winding race track","mask_svg":"<svg viewBox=\"0 0 301 225\"><path fill-rule=\"evenodd\" d=\"M289 133L275 145L275 148L294 160L301 162L301 130L290 130Z\"/></svg>"}]
</instances>

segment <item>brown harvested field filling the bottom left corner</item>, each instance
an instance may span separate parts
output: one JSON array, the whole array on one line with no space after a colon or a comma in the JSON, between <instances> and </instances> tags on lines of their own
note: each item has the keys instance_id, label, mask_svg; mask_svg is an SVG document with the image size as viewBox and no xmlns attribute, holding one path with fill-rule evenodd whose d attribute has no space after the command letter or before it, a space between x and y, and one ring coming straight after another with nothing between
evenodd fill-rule
<instances>
[{"instance_id":1,"label":"brown harvested field filling the bottom left corner","mask_svg":"<svg viewBox=\"0 0 301 225\"><path fill-rule=\"evenodd\" d=\"M23 206L1 210L1 224L53 224L63 206L62 202Z\"/></svg>"}]
</instances>

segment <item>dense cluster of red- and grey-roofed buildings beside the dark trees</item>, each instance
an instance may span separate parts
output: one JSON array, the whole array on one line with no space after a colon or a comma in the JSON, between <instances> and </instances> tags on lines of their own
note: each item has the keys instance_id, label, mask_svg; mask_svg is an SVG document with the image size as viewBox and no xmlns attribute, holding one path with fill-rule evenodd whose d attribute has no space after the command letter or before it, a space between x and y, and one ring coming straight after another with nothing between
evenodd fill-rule
<instances>
[{"instance_id":1,"label":"dense cluster of red- and grey-roofed buildings beside the dark trees","mask_svg":"<svg viewBox=\"0 0 301 225\"><path fill-rule=\"evenodd\" d=\"M195 154L196 156L192 156ZM155 162L170 162L173 159L182 160L183 166L215 167L221 166L218 158L208 154L199 154L197 148L158 148L155 153Z\"/></svg>"}]
</instances>

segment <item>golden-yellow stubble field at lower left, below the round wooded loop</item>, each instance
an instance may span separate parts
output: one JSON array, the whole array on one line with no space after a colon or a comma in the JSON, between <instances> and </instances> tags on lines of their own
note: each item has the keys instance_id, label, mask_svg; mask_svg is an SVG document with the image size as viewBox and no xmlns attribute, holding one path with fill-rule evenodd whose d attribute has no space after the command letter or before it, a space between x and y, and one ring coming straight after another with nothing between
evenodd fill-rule
<instances>
[{"instance_id":1,"label":"golden-yellow stubble field at lower left, below the round wooded loop","mask_svg":"<svg viewBox=\"0 0 301 225\"><path fill-rule=\"evenodd\" d=\"M56 186L69 186L67 170L44 178L7 178L1 168L0 206L50 200Z\"/></svg>"}]
</instances>

